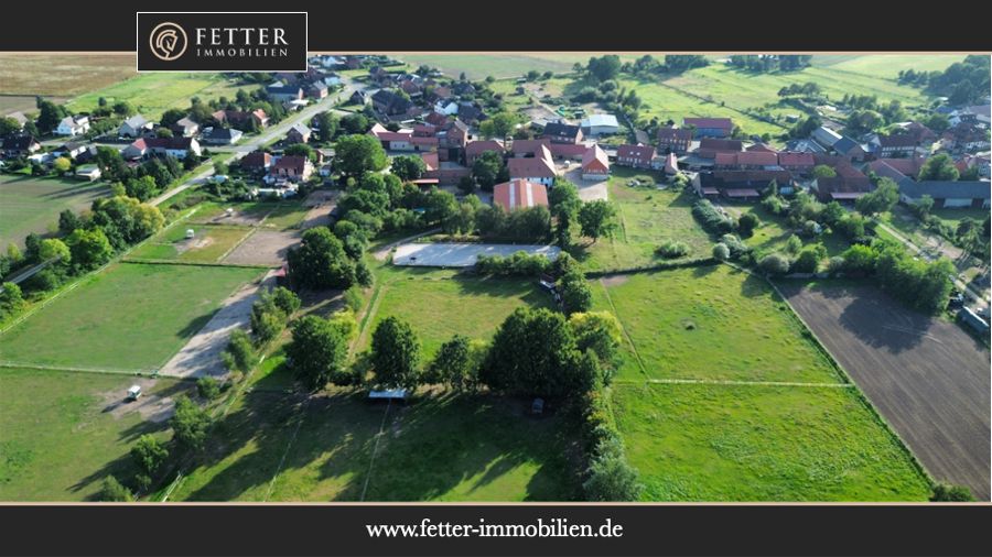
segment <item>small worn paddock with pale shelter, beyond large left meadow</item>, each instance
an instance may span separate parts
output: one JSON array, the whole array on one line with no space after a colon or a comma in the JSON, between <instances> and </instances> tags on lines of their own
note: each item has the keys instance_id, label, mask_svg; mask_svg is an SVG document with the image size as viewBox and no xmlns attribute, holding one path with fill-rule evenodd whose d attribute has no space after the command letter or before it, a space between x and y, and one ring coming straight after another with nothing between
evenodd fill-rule
<instances>
[{"instance_id":1,"label":"small worn paddock with pale shelter, beyond large left meadow","mask_svg":"<svg viewBox=\"0 0 992 557\"><path fill-rule=\"evenodd\" d=\"M186 230L193 230L193 239L186 239ZM164 230L128 258L216 263L249 232L248 227L180 223Z\"/></svg>"}]
</instances>

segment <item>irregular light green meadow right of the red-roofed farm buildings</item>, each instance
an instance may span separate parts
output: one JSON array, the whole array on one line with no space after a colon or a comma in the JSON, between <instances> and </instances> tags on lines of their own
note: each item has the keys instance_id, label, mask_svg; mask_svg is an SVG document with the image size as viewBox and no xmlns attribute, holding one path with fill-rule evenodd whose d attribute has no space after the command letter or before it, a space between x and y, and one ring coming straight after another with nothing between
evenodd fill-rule
<instances>
[{"instance_id":1,"label":"irregular light green meadow right of the red-roofed farm buildings","mask_svg":"<svg viewBox=\"0 0 992 557\"><path fill-rule=\"evenodd\" d=\"M689 245L688 258L709 256L710 236L692 218L691 195L654 186L628 186L633 177L654 183L656 175L614 166L610 178L610 199L616 205L619 230L613 238L571 250L587 271L630 269L664 261L655 254L665 240Z\"/></svg>"}]
</instances>

